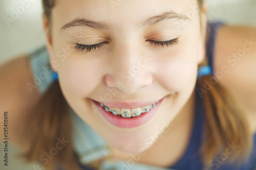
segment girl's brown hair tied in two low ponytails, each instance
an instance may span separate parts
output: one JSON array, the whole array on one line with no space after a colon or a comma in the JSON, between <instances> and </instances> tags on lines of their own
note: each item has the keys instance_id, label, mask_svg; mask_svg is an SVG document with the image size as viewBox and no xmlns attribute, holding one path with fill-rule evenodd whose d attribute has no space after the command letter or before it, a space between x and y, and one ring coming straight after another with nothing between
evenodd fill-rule
<instances>
[{"instance_id":1,"label":"girl's brown hair tied in two low ponytails","mask_svg":"<svg viewBox=\"0 0 256 170\"><path fill-rule=\"evenodd\" d=\"M44 13L49 21L48 27L51 25L51 11L56 1L42 0ZM198 0L198 4L201 10L204 1ZM207 57L205 57L199 67L207 64ZM207 75L198 80L202 90L205 90L205 82L211 82L212 78L213 76ZM229 162L246 160L252 142L247 120L239 104L219 82L212 84L212 87L202 94L202 98L205 110L205 139L200 152L202 152L205 167L209 167L211 160L232 143L238 145L239 148L229 157ZM29 161L38 161L42 154L55 146L58 137L64 136L65 140L71 142L45 166L55 169L56 165L60 164L67 169L79 169L78 157L72 147L68 111L68 104L61 93L59 83L53 82L30 114L31 117L28 118L30 123L26 128L26 133L30 134L31 139L29 139L29 151L25 156Z\"/></svg>"}]
</instances>

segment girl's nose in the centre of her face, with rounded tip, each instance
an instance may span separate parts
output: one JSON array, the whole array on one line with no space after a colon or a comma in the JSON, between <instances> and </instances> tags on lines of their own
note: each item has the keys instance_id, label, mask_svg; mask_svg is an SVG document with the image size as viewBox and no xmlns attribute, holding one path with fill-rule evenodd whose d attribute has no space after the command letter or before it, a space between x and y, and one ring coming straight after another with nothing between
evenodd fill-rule
<instances>
[{"instance_id":1,"label":"girl's nose in the centre of her face, with rounded tip","mask_svg":"<svg viewBox=\"0 0 256 170\"><path fill-rule=\"evenodd\" d=\"M109 60L105 83L132 94L141 87L152 84L152 58L135 45L117 47Z\"/></svg>"}]
</instances>

